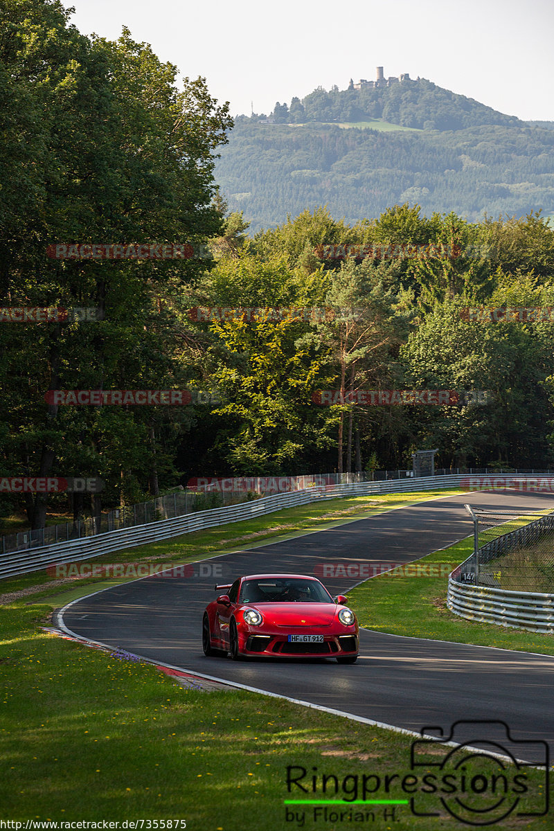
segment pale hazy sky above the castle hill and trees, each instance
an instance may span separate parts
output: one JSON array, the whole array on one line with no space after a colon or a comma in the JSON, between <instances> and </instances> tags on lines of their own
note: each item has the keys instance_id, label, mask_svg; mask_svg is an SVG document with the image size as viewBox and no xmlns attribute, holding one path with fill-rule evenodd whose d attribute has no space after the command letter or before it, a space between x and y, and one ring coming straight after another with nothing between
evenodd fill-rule
<instances>
[{"instance_id":1,"label":"pale hazy sky above the castle hill and trees","mask_svg":"<svg viewBox=\"0 0 554 831\"><path fill-rule=\"evenodd\" d=\"M553 0L66 0L83 34L121 27L231 114L268 113L350 78L429 81L522 119L554 120Z\"/></svg>"}]
</instances>

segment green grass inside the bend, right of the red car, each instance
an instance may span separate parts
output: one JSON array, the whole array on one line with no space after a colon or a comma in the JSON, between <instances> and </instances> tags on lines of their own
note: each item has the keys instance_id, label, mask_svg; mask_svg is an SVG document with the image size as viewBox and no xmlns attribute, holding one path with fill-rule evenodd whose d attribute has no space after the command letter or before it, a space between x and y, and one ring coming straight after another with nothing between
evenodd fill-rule
<instances>
[{"instance_id":1,"label":"green grass inside the bend, right of the red car","mask_svg":"<svg viewBox=\"0 0 554 831\"><path fill-rule=\"evenodd\" d=\"M536 517L534 517L536 519ZM510 522L510 530L530 519ZM488 530L486 538L503 534L502 526ZM425 563L463 563L473 552L473 535L449 548L418 560ZM492 623L467 621L446 607L448 578L397 577L380 574L348 594L348 602L361 627L406 637L469 643L483 647L541 652L554 655L554 637Z\"/></svg>"}]
</instances>

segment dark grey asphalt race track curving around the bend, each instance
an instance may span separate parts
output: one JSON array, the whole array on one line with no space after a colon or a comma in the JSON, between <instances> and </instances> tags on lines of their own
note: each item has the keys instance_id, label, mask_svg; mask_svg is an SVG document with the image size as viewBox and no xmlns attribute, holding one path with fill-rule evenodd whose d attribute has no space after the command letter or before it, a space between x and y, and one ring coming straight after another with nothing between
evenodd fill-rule
<instances>
[{"instance_id":1,"label":"dark grey asphalt race track curving around the bend","mask_svg":"<svg viewBox=\"0 0 554 831\"><path fill-rule=\"evenodd\" d=\"M230 583L241 573L317 575L317 567L326 562L409 563L472 533L464 503L524 513L554 509L554 494L440 498L203 563L219 569L220 583ZM66 609L63 622L81 637L155 661L416 732L430 725L448 731L460 719L502 719L514 738L547 740L552 754L554 656L362 630L360 657L352 666L339 666L332 659L206 658L202 612L215 597L216 581L203 577L200 566L197 563L197 573L187 577L145 578L85 597ZM323 582L333 595L346 593L353 583ZM484 738L486 732L483 725L479 735ZM454 738L466 740L470 735L471 731ZM533 761L528 754L519 758Z\"/></svg>"}]
</instances>

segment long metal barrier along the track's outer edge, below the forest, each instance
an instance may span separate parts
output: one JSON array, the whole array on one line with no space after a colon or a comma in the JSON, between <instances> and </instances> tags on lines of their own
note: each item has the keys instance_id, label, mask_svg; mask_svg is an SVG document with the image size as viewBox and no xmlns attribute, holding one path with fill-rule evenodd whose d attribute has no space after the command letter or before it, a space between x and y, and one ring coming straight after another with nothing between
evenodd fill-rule
<instances>
[{"instance_id":1,"label":"long metal barrier along the track's outer edge, below the forest","mask_svg":"<svg viewBox=\"0 0 554 831\"><path fill-rule=\"evenodd\" d=\"M317 485L305 490L297 490L290 494L274 494L252 502L239 505L228 505L226 508L214 508L198 511L194 514L184 514L173 519L160 519L158 522L131 528L117 529L106 534L96 534L94 537L84 537L70 542L56 545L32 548L20 552L3 554L0 557L0 578L12 577L16 574L26 574L46 568L55 563L70 563L91 557L101 557L112 551L123 548L132 548L136 545L156 542L159 539L179 537L192 531L213 528L230 522L240 522L242 519L271 514L283 508L294 505L303 505L316 502L317 499L335 499L340 496L367 496L370 494L408 493L414 490L429 490L435 488L453 488L467 474L453 474L446 476L422 476L419 478L385 479L376 482L359 482L356 484ZM472 480L488 479L490 475L473 475ZM527 479L525 475L518 475L517 479ZM535 479L537 477L534 477Z\"/></svg>"}]
</instances>

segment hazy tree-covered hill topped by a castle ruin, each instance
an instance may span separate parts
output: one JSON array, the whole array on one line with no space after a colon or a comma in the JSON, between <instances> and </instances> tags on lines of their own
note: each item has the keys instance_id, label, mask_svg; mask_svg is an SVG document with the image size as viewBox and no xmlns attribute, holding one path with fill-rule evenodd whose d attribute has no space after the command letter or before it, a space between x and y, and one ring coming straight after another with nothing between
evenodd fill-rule
<instances>
[{"instance_id":1,"label":"hazy tree-covered hill topped by a castle ruin","mask_svg":"<svg viewBox=\"0 0 554 831\"><path fill-rule=\"evenodd\" d=\"M365 129L363 120L370 121ZM385 122L404 129L370 129ZM350 223L404 202L428 216L454 210L475 220L542 209L548 217L553 148L547 123L531 125L429 81L411 81L316 90L290 107L278 104L269 120L239 116L215 175L229 208L243 210L252 232L321 204Z\"/></svg>"}]
</instances>

